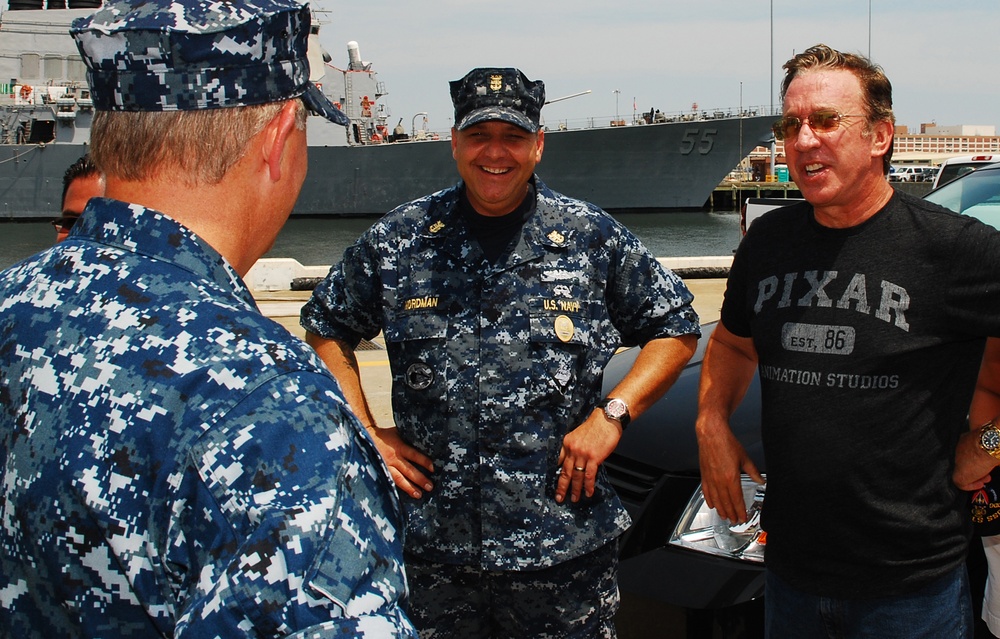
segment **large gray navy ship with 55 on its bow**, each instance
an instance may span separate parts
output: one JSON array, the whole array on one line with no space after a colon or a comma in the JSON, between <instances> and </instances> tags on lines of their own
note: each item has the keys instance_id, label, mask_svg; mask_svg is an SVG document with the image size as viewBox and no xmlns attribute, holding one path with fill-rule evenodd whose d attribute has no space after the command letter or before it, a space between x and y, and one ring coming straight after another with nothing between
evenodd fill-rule
<instances>
[{"instance_id":1,"label":"large gray navy ship with 55 on its bow","mask_svg":"<svg viewBox=\"0 0 1000 639\"><path fill-rule=\"evenodd\" d=\"M0 13L0 219L55 216L63 172L87 151L93 103L68 31L100 4L9 0ZM309 172L293 214L381 214L455 184L448 134L406 132L402 118L393 125L381 101L385 85L358 45L348 43L341 69L319 44L319 27L313 31L313 80L351 124L310 118ZM741 159L767 143L774 119L764 109L693 110L573 127L546 123L543 113L537 173L556 191L610 211L698 209Z\"/></svg>"}]
</instances>

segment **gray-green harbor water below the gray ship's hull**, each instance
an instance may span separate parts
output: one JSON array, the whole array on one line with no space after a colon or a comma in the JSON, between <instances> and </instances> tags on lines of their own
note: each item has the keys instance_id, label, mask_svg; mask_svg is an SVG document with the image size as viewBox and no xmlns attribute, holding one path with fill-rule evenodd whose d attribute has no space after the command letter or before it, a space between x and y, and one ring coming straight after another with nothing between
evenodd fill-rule
<instances>
[{"instance_id":1,"label":"gray-green harbor water below the gray ship's hull","mask_svg":"<svg viewBox=\"0 0 1000 639\"><path fill-rule=\"evenodd\" d=\"M732 255L739 243L736 212L648 212L614 216L657 257ZM290 257L304 266L329 265L377 218L293 218L265 257ZM48 246L55 231L48 222L0 224L0 268Z\"/></svg>"}]
</instances>

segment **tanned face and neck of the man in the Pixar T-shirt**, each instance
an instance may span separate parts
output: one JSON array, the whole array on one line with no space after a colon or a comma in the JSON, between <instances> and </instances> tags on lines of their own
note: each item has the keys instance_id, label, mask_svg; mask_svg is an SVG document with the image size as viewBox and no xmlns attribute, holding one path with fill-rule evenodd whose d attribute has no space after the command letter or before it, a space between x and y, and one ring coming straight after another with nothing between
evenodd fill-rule
<instances>
[{"instance_id":1,"label":"tanned face and neck of the man in the Pixar T-shirt","mask_svg":"<svg viewBox=\"0 0 1000 639\"><path fill-rule=\"evenodd\" d=\"M802 71L785 94L785 117L806 120L820 109L867 113L861 82L851 71ZM814 131L804 122L785 140L788 170L821 224L847 227L874 215L892 196L882 172L882 156L892 141L892 124L866 125L863 117L845 118L832 131Z\"/></svg>"}]
</instances>

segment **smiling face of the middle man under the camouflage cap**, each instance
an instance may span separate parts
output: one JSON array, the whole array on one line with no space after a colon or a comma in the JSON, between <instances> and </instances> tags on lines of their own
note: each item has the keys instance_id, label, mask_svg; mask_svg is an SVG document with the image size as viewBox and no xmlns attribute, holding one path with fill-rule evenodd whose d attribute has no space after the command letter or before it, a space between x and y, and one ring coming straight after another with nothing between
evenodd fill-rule
<instances>
[{"instance_id":1,"label":"smiling face of the middle man under the camouflage cap","mask_svg":"<svg viewBox=\"0 0 1000 639\"><path fill-rule=\"evenodd\" d=\"M452 130L451 153L473 208L488 216L516 209L544 146L544 131L528 133L507 122L480 122L462 131Z\"/></svg>"}]
</instances>

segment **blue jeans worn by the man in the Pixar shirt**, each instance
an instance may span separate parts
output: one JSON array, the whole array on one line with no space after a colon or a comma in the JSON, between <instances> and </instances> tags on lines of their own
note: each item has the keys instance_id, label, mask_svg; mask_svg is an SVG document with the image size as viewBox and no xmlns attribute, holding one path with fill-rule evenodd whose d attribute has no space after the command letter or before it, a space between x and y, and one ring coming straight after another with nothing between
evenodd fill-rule
<instances>
[{"instance_id":1,"label":"blue jeans worn by the man in the Pixar shirt","mask_svg":"<svg viewBox=\"0 0 1000 639\"><path fill-rule=\"evenodd\" d=\"M916 592L877 599L817 597L768 571L764 614L768 639L972 639L973 635L964 564Z\"/></svg>"}]
</instances>

